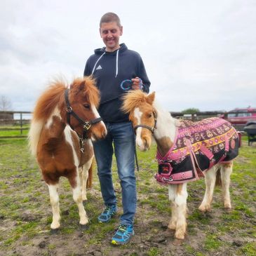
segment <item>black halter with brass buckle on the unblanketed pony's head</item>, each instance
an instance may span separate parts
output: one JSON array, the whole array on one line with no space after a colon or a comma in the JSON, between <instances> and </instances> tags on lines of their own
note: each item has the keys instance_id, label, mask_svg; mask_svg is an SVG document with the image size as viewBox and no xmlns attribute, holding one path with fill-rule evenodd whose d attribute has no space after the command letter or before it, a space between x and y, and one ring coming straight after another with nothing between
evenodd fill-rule
<instances>
[{"instance_id":1,"label":"black halter with brass buckle on the unblanketed pony's head","mask_svg":"<svg viewBox=\"0 0 256 256\"><path fill-rule=\"evenodd\" d=\"M70 115L74 116L74 118L76 120L79 121L79 123L81 123L81 125L83 126L83 135L79 135L77 132L77 134L79 135L80 139L84 140L87 138L87 131L90 129L90 127L95 124L95 123L99 123L100 121L102 121L103 119L101 117L98 117L97 119L93 119L90 121L84 121L83 119L81 119L72 109L72 107L70 106L69 103L69 89L65 90L65 102L67 105L67 123L69 124L70 128L72 128L72 130L74 130L74 127L71 125L70 123Z\"/></svg>"}]
</instances>

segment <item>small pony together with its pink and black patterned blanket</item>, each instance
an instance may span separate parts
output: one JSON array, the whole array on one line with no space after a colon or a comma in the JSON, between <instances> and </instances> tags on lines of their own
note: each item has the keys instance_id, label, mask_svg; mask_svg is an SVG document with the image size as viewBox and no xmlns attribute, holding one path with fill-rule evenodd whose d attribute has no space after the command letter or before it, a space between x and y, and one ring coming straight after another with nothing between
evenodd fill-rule
<instances>
[{"instance_id":1,"label":"small pony together with its pink and black patterned blanket","mask_svg":"<svg viewBox=\"0 0 256 256\"><path fill-rule=\"evenodd\" d=\"M136 132L136 144L145 151L154 136L159 170L156 181L168 185L172 216L169 229L184 239L187 229L187 182L206 178L206 193L199 210L210 211L216 178L222 181L224 208L230 209L229 196L232 159L238 155L238 134L224 119L199 122L174 119L149 95L132 90L123 98L123 111L129 113ZM216 182L217 183L217 182Z\"/></svg>"}]
</instances>

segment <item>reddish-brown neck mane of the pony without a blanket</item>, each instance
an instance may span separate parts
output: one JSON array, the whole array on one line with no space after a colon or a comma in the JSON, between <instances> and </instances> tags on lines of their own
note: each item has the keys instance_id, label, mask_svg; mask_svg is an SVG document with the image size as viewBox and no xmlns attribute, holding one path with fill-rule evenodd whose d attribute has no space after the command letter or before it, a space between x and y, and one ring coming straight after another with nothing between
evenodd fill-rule
<instances>
[{"instance_id":1,"label":"reddish-brown neck mane of the pony without a blanket","mask_svg":"<svg viewBox=\"0 0 256 256\"><path fill-rule=\"evenodd\" d=\"M36 102L36 107L34 108L33 119L46 120L53 112L53 109L60 102L60 98L64 97L64 90L67 88L65 82L61 79L56 79L46 91L39 97L39 100Z\"/></svg>"}]
</instances>

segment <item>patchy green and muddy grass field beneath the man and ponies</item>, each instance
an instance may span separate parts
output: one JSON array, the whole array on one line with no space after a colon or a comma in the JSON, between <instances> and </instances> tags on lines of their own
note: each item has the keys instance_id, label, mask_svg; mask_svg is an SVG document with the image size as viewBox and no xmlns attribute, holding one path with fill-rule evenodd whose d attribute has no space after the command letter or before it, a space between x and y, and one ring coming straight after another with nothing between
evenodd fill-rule
<instances>
[{"instance_id":1,"label":"patchy green and muddy grass field beneath the man and ponies","mask_svg":"<svg viewBox=\"0 0 256 256\"><path fill-rule=\"evenodd\" d=\"M246 139L244 139L246 140ZM135 236L119 248L109 244L118 218L98 224L102 198L97 175L88 191L87 230L79 227L79 215L72 191L61 180L61 228L50 234L51 209L46 184L36 161L27 149L27 140L0 140L0 255L256 255L256 143L243 141L231 175L233 209L222 209L221 189L215 189L213 210L202 214L197 208L204 194L204 181L189 183L188 233L181 245L173 244L167 230L170 217L168 189L154 180L156 146L137 152L137 214ZM113 167L114 184L121 214L121 188Z\"/></svg>"}]
</instances>

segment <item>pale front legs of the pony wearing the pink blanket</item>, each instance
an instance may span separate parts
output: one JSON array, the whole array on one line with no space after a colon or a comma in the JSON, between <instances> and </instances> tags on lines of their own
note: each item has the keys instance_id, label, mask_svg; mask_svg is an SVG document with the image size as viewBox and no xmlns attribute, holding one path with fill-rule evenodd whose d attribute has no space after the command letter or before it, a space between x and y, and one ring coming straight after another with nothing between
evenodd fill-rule
<instances>
[{"instance_id":1,"label":"pale front legs of the pony wearing the pink blanket","mask_svg":"<svg viewBox=\"0 0 256 256\"><path fill-rule=\"evenodd\" d=\"M187 183L169 186L169 198L173 201L173 215L168 227L175 227L175 238L184 239L187 229Z\"/></svg>"}]
</instances>

